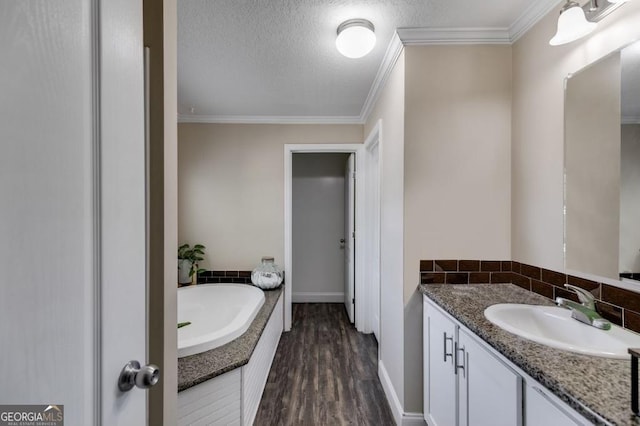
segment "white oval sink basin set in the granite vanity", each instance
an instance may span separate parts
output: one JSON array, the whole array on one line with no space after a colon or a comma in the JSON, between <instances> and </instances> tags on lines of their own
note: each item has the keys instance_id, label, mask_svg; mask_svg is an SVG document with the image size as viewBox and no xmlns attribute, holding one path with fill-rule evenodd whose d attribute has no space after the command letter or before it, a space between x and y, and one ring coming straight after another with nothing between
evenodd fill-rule
<instances>
[{"instance_id":1,"label":"white oval sink basin set in the granite vanity","mask_svg":"<svg viewBox=\"0 0 640 426\"><path fill-rule=\"evenodd\" d=\"M640 334L615 325L600 330L571 318L557 306L502 303L489 306L484 316L498 327L543 345L584 355L629 359L629 348L640 347Z\"/></svg>"}]
</instances>

